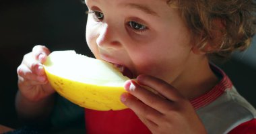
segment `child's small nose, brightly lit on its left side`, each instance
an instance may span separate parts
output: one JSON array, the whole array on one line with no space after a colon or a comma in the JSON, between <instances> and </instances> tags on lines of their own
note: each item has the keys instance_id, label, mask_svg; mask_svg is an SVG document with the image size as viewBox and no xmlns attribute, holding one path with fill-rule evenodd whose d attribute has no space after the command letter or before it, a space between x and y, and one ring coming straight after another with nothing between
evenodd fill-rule
<instances>
[{"instance_id":1,"label":"child's small nose, brightly lit on its left side","mask_svg":"<svg viewBox=\"0 0 256 134\"><path fill-rule=\"evenodd\" d=\"M98 47L102 49L117 49L121 47L119 29L108 24L102 24L99 36L96 40Z\"/></svg>"}]
</instances>

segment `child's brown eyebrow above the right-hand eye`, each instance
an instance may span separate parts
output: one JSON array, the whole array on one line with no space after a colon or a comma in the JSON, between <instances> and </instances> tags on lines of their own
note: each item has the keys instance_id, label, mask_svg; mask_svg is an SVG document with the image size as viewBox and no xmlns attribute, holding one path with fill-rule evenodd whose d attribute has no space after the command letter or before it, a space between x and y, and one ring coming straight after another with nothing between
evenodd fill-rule
<instances>
[{"instance_id":1,"label":"child's brown eyebrow above the right-hand eye","mask_svg":"<svg viewBox=\"0 0 256 134\"><path fill-rule=\"evenodd\" d=\"M135 9L139 9L145 13L148 13L150 15L154 15L154 16L158 16L158 13L156 13L155 11L153 11L152 9L150 9L150 7L146 6L146 5L139 5L136 3L125 3L122 4L123 7L131 7L131 8L135 8Z\"/></svg>"}]
</instances>

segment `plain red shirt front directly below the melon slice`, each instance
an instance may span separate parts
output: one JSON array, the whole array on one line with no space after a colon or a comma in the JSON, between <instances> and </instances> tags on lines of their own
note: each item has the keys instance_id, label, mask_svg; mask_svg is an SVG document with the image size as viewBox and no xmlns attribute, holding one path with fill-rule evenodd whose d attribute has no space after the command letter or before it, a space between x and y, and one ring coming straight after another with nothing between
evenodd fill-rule
<instances>
[{"instance_id":1,"label":"plain red shirt front directly below the melon slice","mask_svg":"<svg viewBox=\"0 0 256 134\"><path fill-rule=\"evenodd\" d=\"M86 109L86 133L146 134L149 129L131 109L122 111L94 111Z\"/></svg>"}]
</instances>

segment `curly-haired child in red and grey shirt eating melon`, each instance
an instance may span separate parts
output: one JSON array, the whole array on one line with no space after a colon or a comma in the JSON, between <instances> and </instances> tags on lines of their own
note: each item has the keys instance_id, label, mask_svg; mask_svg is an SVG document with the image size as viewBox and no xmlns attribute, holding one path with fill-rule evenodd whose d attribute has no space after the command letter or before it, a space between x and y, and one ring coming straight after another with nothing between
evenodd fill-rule
<instances>
[{"instance_id":1,"label":"curly-haired child in red and grey shirt eating melon","mask_svg":"<svg viewBox=\"0 0 256 134\"><path fill-rule=\"evenodd\" d=\"M87 133L255 133L255 109L210 64L249 46L256 29L253 0L85 2L94 56L137 79L128 80L129 93L121 95L129 109L85 110ZM18 67L16 107L30 121L53 111L55 90L42 68L48 54L35 46Z\"/></svg>"}]
</instances>

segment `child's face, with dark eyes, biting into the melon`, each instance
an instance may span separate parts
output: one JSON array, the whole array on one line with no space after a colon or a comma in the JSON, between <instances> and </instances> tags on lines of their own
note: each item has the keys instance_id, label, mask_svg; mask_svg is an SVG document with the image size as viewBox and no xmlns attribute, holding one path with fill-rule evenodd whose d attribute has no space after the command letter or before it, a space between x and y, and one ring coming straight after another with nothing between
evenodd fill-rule
<instances>
[{"instance_id":1,"label":"child's face, with dark eyes, biting into the melon","mask_svg":"<svg viewBox=\"0 0 256 134\"><path fill-rule=\"evenodd\" d=\"M164 0L87 0L86 40L96 58L167 82L191 64L189 29Z\"/></svg>"}]
</instances>

